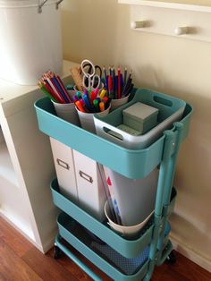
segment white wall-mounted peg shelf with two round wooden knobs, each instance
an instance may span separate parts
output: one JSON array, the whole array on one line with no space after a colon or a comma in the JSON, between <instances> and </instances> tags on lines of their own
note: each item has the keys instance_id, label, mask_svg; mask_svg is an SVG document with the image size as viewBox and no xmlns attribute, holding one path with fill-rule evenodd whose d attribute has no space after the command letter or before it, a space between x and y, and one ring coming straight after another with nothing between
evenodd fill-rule
<instances>
[{"instance_id":1,"label":"white wall-mounted peg shelf with two round wooden knobs","mask_svg":"<svg viewBox=\"0 0 211 281\"><path fill-rule=\"evenodd\" d=\"M148 0L118 3L131 5L131 30L211 42L211 5Z\"/></svg>"}]
</instances>

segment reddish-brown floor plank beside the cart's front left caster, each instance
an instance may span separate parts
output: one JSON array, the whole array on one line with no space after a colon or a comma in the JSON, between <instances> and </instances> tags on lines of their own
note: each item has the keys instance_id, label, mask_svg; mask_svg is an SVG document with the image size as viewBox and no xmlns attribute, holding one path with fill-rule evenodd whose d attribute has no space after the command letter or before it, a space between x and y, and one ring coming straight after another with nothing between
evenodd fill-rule
<instances>
[{"instance_id":1,"label":"reddish-brown floor plank beside the cart's front left caster","mask_svg":"<svg viewBox=\"0 0 211 281\"><path fill-rule=\"evenodd\" d=\"M30 249L30 251L22 257L22 260L24 260L43 280L79 280L77 277L74 277L70 271L63 268L63 266L55 260L50 253L44 255L36 248Z\"/></svg>"}]
</instances>

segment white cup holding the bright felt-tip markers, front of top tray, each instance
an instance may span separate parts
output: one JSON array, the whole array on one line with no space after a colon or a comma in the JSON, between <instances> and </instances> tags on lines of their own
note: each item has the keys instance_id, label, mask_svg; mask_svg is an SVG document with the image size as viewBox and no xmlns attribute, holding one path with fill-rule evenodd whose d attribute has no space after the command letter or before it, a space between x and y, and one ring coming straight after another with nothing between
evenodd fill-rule
<instances>
[{"instance_id":1,"label":"white cup holding the bright felt-tip markers, front of top tray","mask_svg":"<svg viewBox=\"0 0 211 281\"><path fill-rule=\"evenodd\" d=\"M105 116L109 113L110 110L110 106L107 107L107 109L105 109L102 112L98 112L97 115L100 116ZM94 115L95 113L86 113L86 112L81 112L80 110L78 110L78 108L76 108L78 115L79 115L79 119L80 119L80 126L89 131L89 132L93 132L96 133L96 127L95 127L95 122L94 122Z\"/></svg>"}]
</instances>

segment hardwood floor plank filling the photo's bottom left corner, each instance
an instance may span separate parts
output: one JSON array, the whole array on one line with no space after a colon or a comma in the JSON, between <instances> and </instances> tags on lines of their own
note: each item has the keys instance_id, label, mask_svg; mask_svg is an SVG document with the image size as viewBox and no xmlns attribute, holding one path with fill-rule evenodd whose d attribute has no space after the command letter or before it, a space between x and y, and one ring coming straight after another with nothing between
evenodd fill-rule
<instances>
[{"instance_id":1,"label":"hardwood floor plank filling the photo's bottom left corner","mask_svg":"<svg viewBox=\"0 0 211 281\"><path fill-rule=\"evenodd\" d=\"M40 277L0 238L0 272L3 280L42 281Z\"/></svg>"}]
</instances>

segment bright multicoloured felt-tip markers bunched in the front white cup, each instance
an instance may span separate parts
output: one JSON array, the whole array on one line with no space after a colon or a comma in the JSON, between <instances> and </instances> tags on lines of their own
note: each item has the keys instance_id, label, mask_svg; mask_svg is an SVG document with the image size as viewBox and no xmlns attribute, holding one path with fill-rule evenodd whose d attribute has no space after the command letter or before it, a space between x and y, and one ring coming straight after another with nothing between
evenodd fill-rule
<instances>
[{"instance_id":1,"label":"bright multicoloured felt-tip markers bunched in the front white cup","mask_svg":"<svg viewBox=\"0 0 211 281\"><path fill-rule=\"evenodd\" d=\"M101 112L110 105L106 90L99 90L98 88L93 91L88 89L84 89L83 92L77 91L73 96L73 102L81 112L86 113Z\"/></svg>"}]
</instances>

